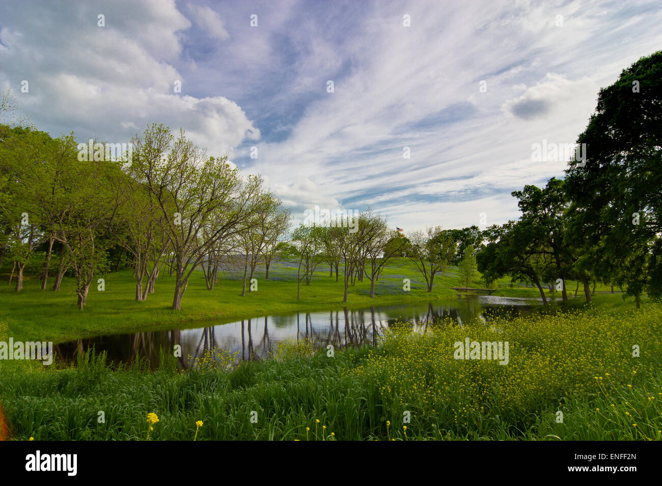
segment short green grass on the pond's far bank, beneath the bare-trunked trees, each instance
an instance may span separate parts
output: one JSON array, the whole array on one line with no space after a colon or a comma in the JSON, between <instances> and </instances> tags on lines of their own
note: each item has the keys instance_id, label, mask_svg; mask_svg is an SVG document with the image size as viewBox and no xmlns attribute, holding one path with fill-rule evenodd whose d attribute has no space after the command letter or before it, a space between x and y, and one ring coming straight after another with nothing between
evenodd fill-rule
<instances>
[{"instance_id":1,"label":"short green grass on the pond's far bank, beneath the bare-trunked trees","mask_svg":"<svg viewBox=\"0 0 662 486\"><path fill-rule=\"evenodd\" d=\"M38 267L37 267L38 268ZM0 280L0 321L9 325L11 335L24 341L40 340L60 343L73 339L113 333L128 333L154 329L169 329L173 325L195 325L195 321L215 319L231 321L261 315L348 307L368 307L380 304L401 304L456 298L451 287L459 286L455 268L437 275L432 293L426 292L424 279L406 259L394 259L385 268L375 286L375 298L369 297L370 282L356 282L350 286L348 304L343 304L342 272L340 280L329 276L328 266L319 269L310 286L302 284L301 299L297 302L297 273L293 264L274 264L265 280L263 268L258 268L258 291L242 297L242 276L223 274L214 290L207 290L201 271L195 272L187 287L181 311L171 310L174 278L164 271L156 282L154 294L145 302L136 302L135 280L132 270L121 270L99 275L105 280L105 290L97 290L96 278L89 290L87 304L82 311L76 307L75 280L65 278L58 292L40 290L40 282L26 279L20 293L7 286L7 272ZM409 278L411 290L402 290L402 280ZM481 282L473 282L474 288L483 288ZM514 286L508 278L495 282L494 295L539 298L536 288ZM567 283L574 288L574 282ZM598 286L597 290L608 290ZM550 294L560 296L557 292ZM577 294L578 302L584 302L583 292Z\"/></svg>"}]
</instances>

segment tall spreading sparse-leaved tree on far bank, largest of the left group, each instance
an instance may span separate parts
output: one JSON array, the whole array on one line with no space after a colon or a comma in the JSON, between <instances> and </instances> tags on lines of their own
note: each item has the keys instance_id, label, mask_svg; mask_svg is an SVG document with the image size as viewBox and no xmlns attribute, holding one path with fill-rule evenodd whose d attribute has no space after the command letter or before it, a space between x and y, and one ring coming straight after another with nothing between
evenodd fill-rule
<instances>
[{"instance_id":1,"label":"tall spreading sparse-leaved tree on far bank, largest of the left group","mask_svg":"<svg viewBox=\"0 0 662 486\"><path fill-rule=\"evenodd\" d=\"M260 177L241 179L239 169L227 156L207 157L205 151L185 138L183 130L172 141L158 134L169 132L163 125L150 125L144 138L167 140L167 157L134 157L135 173L148 186L160 214L160 224L171 248L175 273L172 308L181 309L181 298L189 278L222 239L238 236L250 214L261 186ZM135 145L135 143L134 143ZM203 238L203 229L207 235Z\"/></svg>"}]
</instances>

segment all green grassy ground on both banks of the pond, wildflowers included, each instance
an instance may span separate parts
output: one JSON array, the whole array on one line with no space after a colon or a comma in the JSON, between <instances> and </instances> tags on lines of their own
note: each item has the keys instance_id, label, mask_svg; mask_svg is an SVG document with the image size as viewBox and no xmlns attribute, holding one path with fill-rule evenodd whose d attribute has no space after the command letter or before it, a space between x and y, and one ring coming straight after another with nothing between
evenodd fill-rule
<instances>
[{"instance_id":1,"label":"all green grassy ground on both banks of the pond, wildflowers included","mask_svg":"<svg viewBox=\"0 0 662 486\"><path fill-rule=\"evenodd\" d=\"M101 276L106 290L91 290L83 311L75 307L70 279L60 292L42 292L36 280L26 280L21 294L0 291L0 341L59 342L344 305L342 275L336 282L328 268L302 286L297 302L294 271L278 264L269 280L258 274L258 292L245 297L237 274L226 274L214 290L196 275L179 312L169 309L167 275L146 302L132 300L130 270ZM350 287L349 305L453 297L453 272L437 278L428 294L398 259L374 300L365 279ZM412 280L411 292L402 291L402 278ZM495 288L496 295L538 296L506 279ZM438 321L422 333L399 323L377 346L334 356L306 341L285 341L269 360L233 366L231 356L217 352L186 372L169 354L154 372L140 361L111 366L93 351L69 368L3 361L0 401L16 440L659 440L662 306L645 299L636 311L620 294L596 294L585 305L581 291L569 295L565 306L554 302L487 326ZM508 341L508 364L456 360L454 343L467 337Z\"/></svg>"}]
</instances>

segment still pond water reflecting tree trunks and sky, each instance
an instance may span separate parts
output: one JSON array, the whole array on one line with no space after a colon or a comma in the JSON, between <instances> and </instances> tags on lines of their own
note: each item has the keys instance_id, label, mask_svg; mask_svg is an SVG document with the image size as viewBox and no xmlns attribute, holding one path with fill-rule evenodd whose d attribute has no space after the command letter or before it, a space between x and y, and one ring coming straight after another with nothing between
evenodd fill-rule
<instances>
[{"instance_id":1,"label":"still pond water reflecting tree trunks and sky","mask_svg":"<svg viewBox=\"0 0 662 486\"><path fill-rule=\"evenodd\" d=\"M487 323L496 315L516 317L530 313L540 302L531 299L495 296L468 296L459 300L438 300L416 304L378 305L363 309L334 309L332 311L295 312L267 315L234 322L201 321L199 327L144 331L79 339L56 344L58 362L75 362L77 353L92 346L105 351L113 363L133 362L136 357L148 358L158 366L160 348L172 352L181 345L180 369L195 366L205 352L220 348L234 353L236 360L267 358L272 346L284 339L310 339L316 346L333 344L346 346L375 344L379 336L395 323L408 321L425 327L439 319L450 319L453 325L469 321Z\"/></svg>"}]
</instances>

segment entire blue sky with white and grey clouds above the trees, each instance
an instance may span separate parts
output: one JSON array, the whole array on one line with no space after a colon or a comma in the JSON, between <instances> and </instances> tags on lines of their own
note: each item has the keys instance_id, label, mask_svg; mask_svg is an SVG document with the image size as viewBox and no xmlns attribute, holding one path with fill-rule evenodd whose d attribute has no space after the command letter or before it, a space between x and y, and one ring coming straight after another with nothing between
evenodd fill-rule
<instances>
[{"instance_id":1,"label":"entire blue sky with white and grey clouds above the trees","mask_svg":"<svg viewBox=\"0 0 662 486\"><path fill-rule=\"evenodd\" d=\"M661 48L659 0L0 3L0 90L38 129L182 128L294 223L370 206L406 231L518 218L510 192L567 168L534 145L574 143Z\"/></svg>"}]
</instances>

